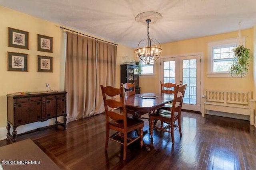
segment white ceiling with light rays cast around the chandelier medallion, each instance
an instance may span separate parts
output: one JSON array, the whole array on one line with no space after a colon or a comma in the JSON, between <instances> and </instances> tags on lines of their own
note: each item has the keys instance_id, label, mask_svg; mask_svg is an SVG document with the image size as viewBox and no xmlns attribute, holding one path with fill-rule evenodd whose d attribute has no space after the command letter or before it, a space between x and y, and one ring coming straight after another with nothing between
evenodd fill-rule
<instances>
[{"instance_id":1,"label":"white ceiling with light rays cast around the chandelier medallion","mask_svg":"<svg viewBox=\"0 0 256 170\"><path fill-rule=\"evenodd\" d=\"M146 21L135 21L146 11L163 16L150 24L150 37L161 44L256 25L256 0L0 0L0 6L132 48L147 36Z\"/></svg>"}]
</instances>

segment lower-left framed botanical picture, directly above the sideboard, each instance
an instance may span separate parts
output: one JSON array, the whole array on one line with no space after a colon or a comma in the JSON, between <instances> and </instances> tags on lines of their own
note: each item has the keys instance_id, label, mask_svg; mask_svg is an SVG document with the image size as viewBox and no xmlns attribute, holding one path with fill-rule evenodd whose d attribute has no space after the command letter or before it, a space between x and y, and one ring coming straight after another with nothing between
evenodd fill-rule
<instances>
[{"instance_id":1,"label":"lower-left framed botanical picture, directly above the sideboard","mask_svg":"<svg viewBox=\"0 0 256 170\"><path fill-rule=\"evenodd\" d=\"M7 52L8 71L28 71L28 54Z\"/></svg>"}]
</instances>

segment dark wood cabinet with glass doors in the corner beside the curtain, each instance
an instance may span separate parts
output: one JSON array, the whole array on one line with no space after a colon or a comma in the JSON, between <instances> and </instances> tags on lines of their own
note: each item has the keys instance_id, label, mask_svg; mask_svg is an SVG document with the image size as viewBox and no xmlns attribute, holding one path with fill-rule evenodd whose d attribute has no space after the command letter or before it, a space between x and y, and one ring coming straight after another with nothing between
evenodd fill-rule
<instances>
[{"instance_id":1,"label":"dark wood cabinet with glass doors in the corner beside the curtain","mask_svg":"<svg viewBox=\"0 0 256 170\"><path fill-rule=\"evenodd\" d=\"M121 64L121 83L134 83L136 94L140 94L139 66L132 64Z\"/></svg>"}]
</instances>

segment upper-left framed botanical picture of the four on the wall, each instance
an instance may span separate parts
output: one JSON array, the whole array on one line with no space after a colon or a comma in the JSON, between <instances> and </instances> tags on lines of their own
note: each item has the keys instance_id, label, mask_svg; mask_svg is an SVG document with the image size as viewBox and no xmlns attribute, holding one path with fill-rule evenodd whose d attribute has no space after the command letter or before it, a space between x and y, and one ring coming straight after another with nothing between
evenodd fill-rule
<instances>
[{"instance_id":1,"label":"upper-left framed botanical picture of the four on the wall","mask_svg":"<svg viewBox=\"0 0 256 170\"><path fill-rule=\"evenodd\" d=\"M28 49L28 35L27 31L8 27L8 47Z\"/></svg>"}]
</instances>

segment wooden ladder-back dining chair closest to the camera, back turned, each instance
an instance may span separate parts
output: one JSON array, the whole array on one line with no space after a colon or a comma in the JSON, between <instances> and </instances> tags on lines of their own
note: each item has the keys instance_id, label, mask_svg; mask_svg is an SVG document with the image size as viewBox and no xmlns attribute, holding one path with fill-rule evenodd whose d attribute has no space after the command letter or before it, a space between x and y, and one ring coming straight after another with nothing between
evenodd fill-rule
<instances>
[{"instance_id":1,"label":"wooden ladder-back dining chair closest to the camera, back turned","mask_svg":"<svg viewBox=\"0 0 256 170\"><path fill-rule=\"evenodd\" d=\"M124 145L123 160L126 160L126 148L134 141L140 139L140 147L143 146L143 121L138 119L126 118L125 94L124 88L114 88L111 86L102 86L102 97L104 101L106 114L106 143L105 151L108 149L108 140L116 141ZM117 97L117 95L119 95ZM120 97L121 95L121 97ZM116 97L116 98L114 98ZM122 112L115 111L115 108L122 108ZM116 131L110 136L110 129ZM140 134L135 139L127 137L127 133L136 129L140 129ZM118 136L118 138L117 138ZM122 140L118 140L122 139Z\"/></svg>"}]
</instances>

